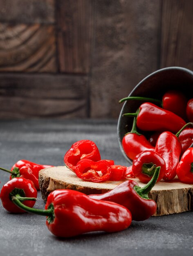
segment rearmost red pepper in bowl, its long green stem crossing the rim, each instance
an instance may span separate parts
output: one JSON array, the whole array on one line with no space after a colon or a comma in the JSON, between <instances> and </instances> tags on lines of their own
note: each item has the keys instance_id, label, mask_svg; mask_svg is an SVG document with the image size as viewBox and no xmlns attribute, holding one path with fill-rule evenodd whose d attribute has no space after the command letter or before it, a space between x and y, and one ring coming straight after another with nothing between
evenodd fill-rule
<instances>
[{"instance_id":1,"label":"rearmost red pepper in bowl, its long green stem crossing the rim","mask_svg":"<svg viewBox=\"0 0 193 256\"><path fill-rule=\"evenodd\" d=\"M170 90L166 92L162 97L162 101L159 99L152 99L147 97L126 97L121 99L119 103L128 100L154 102L155 104L161 106L163 109L169 110L175 113L177 116L186 119L186 104L188 100L185 95L182 94L182 92L177 90Z\"/></svg>"}]
</instances>

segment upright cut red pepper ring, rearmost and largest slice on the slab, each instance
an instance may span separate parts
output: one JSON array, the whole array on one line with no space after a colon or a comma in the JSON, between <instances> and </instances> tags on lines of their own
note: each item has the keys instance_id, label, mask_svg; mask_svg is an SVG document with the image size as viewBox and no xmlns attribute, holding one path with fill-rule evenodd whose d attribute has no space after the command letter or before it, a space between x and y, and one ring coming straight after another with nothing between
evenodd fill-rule
<instances>
[{"instance_id":1,"label":"upright cut red pepper ring, rearmost and largest slice on the slab","mask_svg":"<svg viewBox=\"0 0 193 256\"><path fill-rule=\"evenodd\" d=\"M101 160L101 155L96 144L88 139L76 141L71 148L65 153L65 165L75 172L76 164L81 159L91 159L94 162Z\"/></svg>"}]
</instances>

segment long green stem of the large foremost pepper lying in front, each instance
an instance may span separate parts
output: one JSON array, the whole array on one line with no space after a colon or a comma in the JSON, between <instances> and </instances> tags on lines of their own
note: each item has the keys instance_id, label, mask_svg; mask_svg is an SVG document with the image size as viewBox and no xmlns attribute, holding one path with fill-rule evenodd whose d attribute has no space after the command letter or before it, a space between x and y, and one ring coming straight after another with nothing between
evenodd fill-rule
<instances>
[{"instance_id":1,"label":"long green stem of the large foremost pepper lying in front","mask_svg":"<svg viewBox=\"0 0 193 256\"><path fill-rule=\"evenodd\" d=\"M35 213L35 214L38 214L38 215L49 216L49 217L53 216L53 210L52 209L43 210L43 209L35 209L35 208L28 207L25 204L22 204L22 202L20 202L20 200L16 196L12 197L12 202L14 204L16 204L17 207L19 207L20 209L22 209L24 211L27 211L29 213Z\"/></svg>"}]
</instances>

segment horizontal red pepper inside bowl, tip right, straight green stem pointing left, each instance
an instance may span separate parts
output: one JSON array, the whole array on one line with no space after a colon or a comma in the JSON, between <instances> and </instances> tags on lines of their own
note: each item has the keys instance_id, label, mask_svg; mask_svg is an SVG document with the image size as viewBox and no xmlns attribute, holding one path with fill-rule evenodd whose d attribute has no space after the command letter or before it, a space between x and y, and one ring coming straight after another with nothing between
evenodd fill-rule
<instances>
[{"instance_id":1,"label":"horizontal red pepper inside bowl, tip right, straight green stem pointing left","mask_svg":"<svg viewBox=\"0 0 193 256\"><path fill-rule=\"evenodd\" d=\"M137 117L137 127L143 131L177 132L186 122L173 112L159 108L153 103L143 103L137 113L126 113L123 116Z\"/></svg>"}]
</instances>

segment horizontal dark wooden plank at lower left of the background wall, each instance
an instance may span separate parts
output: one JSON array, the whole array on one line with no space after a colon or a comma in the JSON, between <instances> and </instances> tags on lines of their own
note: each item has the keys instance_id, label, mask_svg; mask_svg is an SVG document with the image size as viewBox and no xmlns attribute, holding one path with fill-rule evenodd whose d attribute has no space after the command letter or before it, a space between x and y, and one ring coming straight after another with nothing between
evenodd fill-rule
<instances>
[{"instance_id":1,"label":"horizontal dark wooden plank at lower left of the background wall","mask_svg":"<svg viewBox=\"0 0 193 256\"><path fill-rule=\"evenodd\" d=\"M0 118L87 117L85 76L0 74Z\"/></svg>"}]
</instances>

